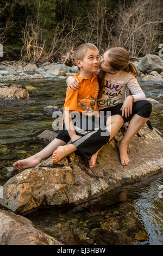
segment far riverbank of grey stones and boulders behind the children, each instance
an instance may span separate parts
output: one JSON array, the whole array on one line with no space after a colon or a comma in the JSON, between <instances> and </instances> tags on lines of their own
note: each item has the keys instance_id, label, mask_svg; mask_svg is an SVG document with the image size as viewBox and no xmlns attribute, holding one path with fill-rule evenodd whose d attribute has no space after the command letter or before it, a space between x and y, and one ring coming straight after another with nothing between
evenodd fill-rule
<instances>
[{"instance_id":1,"label":"far riverbank of grey stones and boulders behind the children","mask_svg":"<svg viewBox=\"0 0 163 256\"><path fill-rule=\"evenodd\" d=\"M163 60L159 56L147 54L147 56L140 59L140 62L134 62L134 64L142 76L151 74L148 80L162 81ZM153 71L155 73L152 73ZM66 66L59 62L45 62L41 65L20 61L0 63L0 81L31 80L38 78L64 79L67 76L77 73L77 66Z\"/></svg>"}]
</instances>

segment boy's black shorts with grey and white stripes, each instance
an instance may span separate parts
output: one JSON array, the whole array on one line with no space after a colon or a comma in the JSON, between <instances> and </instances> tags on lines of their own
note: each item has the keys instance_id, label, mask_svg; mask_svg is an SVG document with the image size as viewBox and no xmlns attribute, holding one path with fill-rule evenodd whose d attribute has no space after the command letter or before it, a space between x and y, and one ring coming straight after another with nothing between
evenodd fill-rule
<instances>
[{"instance_id":1,"label":"boy's black shorts with grey and white stripes","mask_svg":"<svg viewBox=\"0 0 163 256\"><path fill-rule=\"evenodd\" d=\"M78 116L76 117L76 115ZM82 113L76 113L74 116L76 118L72 118L74 130L76 134L82 136L82 138L77 139L77 141L72 142L72 144L77 148L80 154L90 160L91 156L109 141L110 132L106 130L105 126L102 127L100 125L99 118L97 117L88 117ZM71 140L65 123L63 123L63 129L56 138L61 139L61 141L65 143Z\"/></svg>"}]
</instances>

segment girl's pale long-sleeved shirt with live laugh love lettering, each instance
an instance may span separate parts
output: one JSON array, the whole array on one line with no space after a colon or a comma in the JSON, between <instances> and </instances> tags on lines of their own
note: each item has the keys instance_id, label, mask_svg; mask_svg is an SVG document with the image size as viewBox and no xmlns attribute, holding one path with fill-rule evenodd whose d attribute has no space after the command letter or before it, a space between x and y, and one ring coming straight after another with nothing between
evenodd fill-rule
<instances>
[{"instance_id":1,"label":"girl's pale long-sleeved shirt with live laugh love lettering","mask_svg":"<svg viewBox=\"0 0 163 256\"><path fill-rule=\"evenodd\" d=\"M134 102L146 99L133 72L121 70L115 75L105 73L102 97L97 100L99 109L113 107L124 102L127 88L134 96Z\"/></svg>"}]
</instances>

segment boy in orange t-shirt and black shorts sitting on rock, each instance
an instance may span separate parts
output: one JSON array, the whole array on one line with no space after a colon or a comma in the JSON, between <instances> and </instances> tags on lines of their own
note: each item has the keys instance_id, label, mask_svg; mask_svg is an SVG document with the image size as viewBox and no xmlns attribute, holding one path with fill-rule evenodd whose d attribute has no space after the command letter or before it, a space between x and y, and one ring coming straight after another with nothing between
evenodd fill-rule
<instances>
[{"instance_id":1,"label":"boy in orange t-shirt and black shorts sitting on rock","mask_svg":"<svg viewBox=\"0 0 163 256\"><path fill-rule=\"evenodd\" d=\"M74 76L80 81L80 89L70 92L67 88L63 130L57 136L65 142L71 139L72 143L59 146L54 151L53 163L77 149L90 160L91 156L110 138L109 131L101 130L99 127L97 107L99 85L95 75L99 68L97 47L90 43L82 44L74 51L74 57L80 69L80 72ZM84 129L83 126L85 126ZM105 132L105 135L102 132Z\"/></svg>"}]
</instances>

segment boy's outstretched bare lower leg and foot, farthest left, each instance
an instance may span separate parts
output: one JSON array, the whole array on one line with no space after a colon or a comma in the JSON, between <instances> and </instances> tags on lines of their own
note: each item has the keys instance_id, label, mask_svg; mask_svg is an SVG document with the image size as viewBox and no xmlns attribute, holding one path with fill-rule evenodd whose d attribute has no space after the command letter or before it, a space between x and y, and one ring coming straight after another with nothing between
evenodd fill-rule
<instances>
[{"instance_id":1,"label":"boy's outstretched bare lower leg and foot, farthest left","mask_svg":"<svg viewBox=\"0 0 163 256\"><path fill-rule=\"evenodd\" d=\"M42 149L39 153L28 157L27 159L18 160L13 164L15 168L18 170L27 169L30 167L35 167L40 163L42 159L45 159L48 156L51 156L55 149L58 148L59 145L65 145L64 141L60 139L53 139L51 143L49 143L44 149Z\"/></svg>"}]
</instances>

